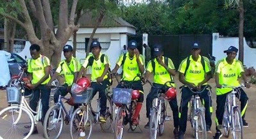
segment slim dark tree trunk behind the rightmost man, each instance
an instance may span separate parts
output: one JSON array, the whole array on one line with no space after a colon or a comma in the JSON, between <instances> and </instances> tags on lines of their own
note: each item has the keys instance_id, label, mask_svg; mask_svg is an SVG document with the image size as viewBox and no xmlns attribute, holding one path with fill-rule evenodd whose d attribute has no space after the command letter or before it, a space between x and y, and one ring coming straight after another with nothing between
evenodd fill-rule
<instances>
[{"instance_id":1,"label":"slim dark tree trunk behind the rightmost man","mask_svg":"<svg viewBox=\"0 0 256 139\"><path fill-rule=\"evenodd\" d=\"M243 0L239 1L239 56L238 59L244 62L244 5Z\"/></svg>"}]
</instances>

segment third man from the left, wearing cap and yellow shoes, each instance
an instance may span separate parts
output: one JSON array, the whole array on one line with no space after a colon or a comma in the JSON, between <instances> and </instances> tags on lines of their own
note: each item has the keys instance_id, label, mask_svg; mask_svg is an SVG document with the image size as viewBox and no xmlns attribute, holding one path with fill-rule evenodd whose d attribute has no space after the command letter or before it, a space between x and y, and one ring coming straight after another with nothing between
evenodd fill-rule
<instances>
[{"instance_id":1,"label":"third man from the left, wearing cap and yellow shoes","mask_svg":"<svg viewBox=\"0 0 256 139\"><path fill-rule=\"evenodd\" d=\"M86 72L88 67L91 67L91 88L93 88L93 97L99 91L100 97L100 117L99 121L105 123L106 120L104 118L106 113L106 105L107 105L107 96L106 96L106 89L110 85L110 81L108 78L108 70L110 67L110 62L107 55L102 54L101 46L98 41L93 41L90 46L90 50L92 55L88 55L85 59L84 64L82 65L79 73L79 79L83 72Z\"/></svg>"}]
</instances>

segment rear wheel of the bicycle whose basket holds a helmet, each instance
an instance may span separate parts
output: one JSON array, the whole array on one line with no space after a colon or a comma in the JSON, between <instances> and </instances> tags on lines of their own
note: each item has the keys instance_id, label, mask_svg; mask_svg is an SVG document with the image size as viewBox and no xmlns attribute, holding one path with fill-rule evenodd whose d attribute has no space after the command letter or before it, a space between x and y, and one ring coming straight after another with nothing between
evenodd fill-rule
<instances>
[{"instance_id":1,"label":"rear wheel of the bicycle whose basket holds a helmet","mask_svg":"<svg viewBox=\"0 0 256 139\"><path fill-rule=\"evenodd\" d=\"M107 110L105 113L106 123L101 123L100 127L103 131L108 131L113 122L113 103L111 97L107 96Z\"/></svg>"}]
</instances>

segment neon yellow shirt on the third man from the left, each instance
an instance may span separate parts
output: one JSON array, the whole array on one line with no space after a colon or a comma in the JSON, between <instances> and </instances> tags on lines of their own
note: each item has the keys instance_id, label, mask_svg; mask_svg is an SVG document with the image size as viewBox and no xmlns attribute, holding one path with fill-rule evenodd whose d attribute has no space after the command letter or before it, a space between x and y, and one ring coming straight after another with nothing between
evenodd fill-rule
<instances>
[{"instance_id":1,"label":"neon yellow shirt on the third man from the left","mask_svg":"<svg viewBox=\"0 0 256 139\"><path fill-rule=\"evenodd\" d=\"M106 64L109 64L109 67L110 67L110 62L109 62L108 56L104 55L104 61L102 63L100 61L101 55L102 55L102 53L99 54L99 58L97 60L96 59L93 60L93 63L92 63L92 66L91 66L91 69L92 69L91 80L94 81L94 82L96 82L97 78L100 77L102 75L102 73L104 72ZM84 64L82 65L86 69L89 67L88 63L89 63L89 58L90 57L94 58L93 55L88 55L87 58L85 59ZM108 78L108 75L106 74L104 76L103 80L105 80L107 78Z\"/></svg>"}]
</instances>

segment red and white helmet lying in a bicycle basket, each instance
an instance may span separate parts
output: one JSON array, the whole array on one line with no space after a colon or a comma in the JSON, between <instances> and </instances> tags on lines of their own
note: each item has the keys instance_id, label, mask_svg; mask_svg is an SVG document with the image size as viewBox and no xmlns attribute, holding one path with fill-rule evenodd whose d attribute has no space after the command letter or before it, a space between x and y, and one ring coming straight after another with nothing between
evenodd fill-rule
<instances>
[{"instance_id":1,"label":"red and white helmet lying in a bicycle basket","mask_svg":"<svg viewBox=\"0 0 256 139\"><path fill-rule=\"evenodd\" d=\"M86 90L90 86L91 86L90 81L87 78L82 77L72 85L71 92L82 93L84 90Z\"/></svg>"}]
</instances>

